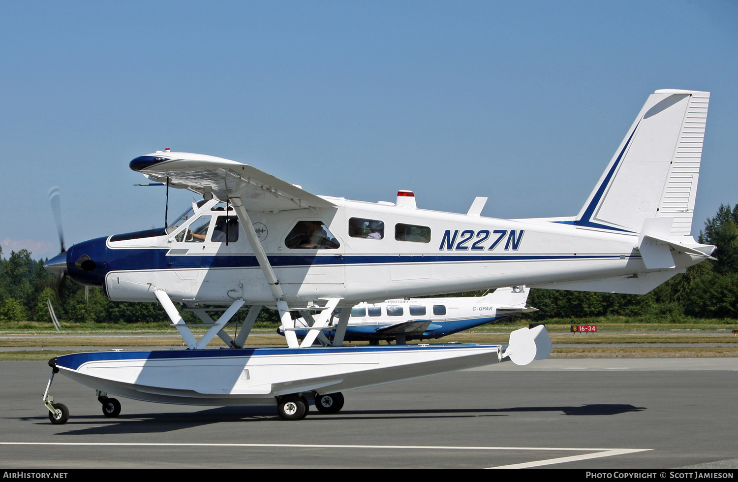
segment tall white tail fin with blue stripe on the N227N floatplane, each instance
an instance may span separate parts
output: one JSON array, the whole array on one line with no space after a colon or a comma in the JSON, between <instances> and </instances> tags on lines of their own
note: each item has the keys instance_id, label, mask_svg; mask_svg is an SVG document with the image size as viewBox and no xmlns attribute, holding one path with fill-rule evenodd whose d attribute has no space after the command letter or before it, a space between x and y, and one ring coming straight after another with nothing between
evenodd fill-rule
<instances>
[{"instance_id":1,"label":"tall white tail fin with blue stripe on the N227N floatplane","mask_svg":"<svg viewBox=\"0 0 738 482\"><path fill-rule=\"evenodd\" d=\"M640 233L664 219L692 231L709 92L657 90L646 100L573 224Z\"/></svg>"}]
</instances>

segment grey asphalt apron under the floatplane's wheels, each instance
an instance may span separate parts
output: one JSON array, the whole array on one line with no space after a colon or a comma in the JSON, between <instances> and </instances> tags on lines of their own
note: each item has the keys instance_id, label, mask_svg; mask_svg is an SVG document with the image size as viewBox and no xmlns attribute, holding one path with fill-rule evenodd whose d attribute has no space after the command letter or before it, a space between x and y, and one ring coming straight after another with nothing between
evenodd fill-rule
<instances>
[{"instance_id":1,"label":"grey asphalt apron under the floatplane's wheels","mask_svg":"<svg viewBox=\"0 0 738 482\"><path fill-rule=\"evenodd\" d=\"M4 468L677 468L736 466L738 359L547 359L345 393L331 416L121 399L46 362L0 362ZM721 465L722 464L722 465Z\"/></svg>"}]
</instances>

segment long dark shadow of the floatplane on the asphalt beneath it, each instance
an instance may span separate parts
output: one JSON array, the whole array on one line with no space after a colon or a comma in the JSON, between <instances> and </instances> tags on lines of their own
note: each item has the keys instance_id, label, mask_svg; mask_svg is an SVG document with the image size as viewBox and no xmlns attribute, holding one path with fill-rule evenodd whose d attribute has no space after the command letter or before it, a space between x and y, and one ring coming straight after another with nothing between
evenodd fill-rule
<instances>
[{"instance_id":1,"label":"long dark shadow of the floatplane on the asphalt beneath it","mask_svg":"<svg viewBox=\"0 0 738 482\"><path fill-rule=\"evenodd\" d=\"M428 410L342 410L333 416L320 415L311 410L306 420L320 419L447 419L453 417L506 416L520 412L562 412L568 416L612 416L620 413L640 412L645 407L631 404L585 404L579 407L509 407L509 408L465 408L465 409L428 409ZM49 423L46 417L21 417L22 420L36 421L39 424ZM271 407L218 407L190 413L138 413L122 415L117 419L106 419L98 415L72 416L66 428L80 427L78 430L67 430L57 435L94 435L123 433L164 433L190 427L216 424L221 422L254 422L280 420ZM94 424L94 427L89 427ZM50 424L49 424L50 425ZM61 427L60 427L61 428Z\"/></svg>"}]
</instances>

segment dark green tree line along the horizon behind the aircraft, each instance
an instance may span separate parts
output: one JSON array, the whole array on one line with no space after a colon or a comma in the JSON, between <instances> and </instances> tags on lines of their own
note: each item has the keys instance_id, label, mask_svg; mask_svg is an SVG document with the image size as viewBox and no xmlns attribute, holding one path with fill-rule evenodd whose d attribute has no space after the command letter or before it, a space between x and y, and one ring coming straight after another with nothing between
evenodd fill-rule
<instances>
[{"instance_id":1,"label":"dark green tree line along the horizon behind the aircraft","mask_svg":"<svg viewBox=\"0 0 738 482\"><path fill-rule=\"evenodd\" d=\"M723 204L708 218L700 242L714 244L717 261L703 261L676 275L647 295L569 292L531 289L528 304L540 311L533 320L603 316L738 319L738 204ZM58 278L44 269L46 260L34 260L27 249L4 258L0 247L0 321L48 321L51 300L60 320L97 323L151 323L167 320L159 303L123 303L108 300L99 288ZM59 286L61 285L61 286ZM476 294L476 293L475 293ZM455 295L472 295L471 293ZM186 314L187 318L192 314ZM259 320L277 321L263 310Z\"/></svg>"}]
</instances>

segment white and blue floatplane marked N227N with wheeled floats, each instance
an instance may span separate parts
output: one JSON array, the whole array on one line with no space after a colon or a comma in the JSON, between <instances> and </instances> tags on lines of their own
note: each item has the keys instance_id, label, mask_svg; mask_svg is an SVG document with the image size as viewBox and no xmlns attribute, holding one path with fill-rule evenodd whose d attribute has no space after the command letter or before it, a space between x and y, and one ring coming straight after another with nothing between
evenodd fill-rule
<instances>
[{"instance_id":1,"label":"white and blue floatplane marked N227N with wheeled floats","mask_svg":"<svg viewBox=\"0 0 738 482\"><path fill-rule=\"evenodd\" d=\"M343 346L348 308L520 285L644 294L710 258L714 247L690 235L708 100L708 92L651 94L582 210L563 218L485 218L485 198L466 214L422 210L407 191L396 202L316 196L228 159L139 156L131 169L203 200L165 229L75 244L46 268L100 286L111 300L158 300L190 349L71 354L52 359L52 372L95 388L107 416L120 413L111 393L270 403L283 419L301 419L309 399L332 413L341 391L545 358L551 340L542 327L514 331L508 345ZM174 303L210 325L207 334L196 340ZM213 305L224 310L217 322L204 308ZM234 339L223 328L244 306ZM279 311L287 348L242 348L262 306ZM292 311L310 326L302 342ZM202 349L215 336L232 349ZM49 419L63 423L69 411L54 403L49 385Z\"/></svg>"}]
</instances>

